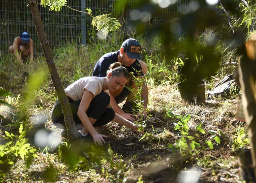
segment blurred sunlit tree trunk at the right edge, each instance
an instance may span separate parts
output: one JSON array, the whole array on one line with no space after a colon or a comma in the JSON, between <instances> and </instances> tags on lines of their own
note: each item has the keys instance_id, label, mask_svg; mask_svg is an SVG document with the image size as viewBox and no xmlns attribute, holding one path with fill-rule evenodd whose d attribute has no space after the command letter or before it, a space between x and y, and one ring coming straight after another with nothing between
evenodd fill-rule
<instances>
[{"instance_id":1,"label":"blurred sunlit tree trunk at the right edge","mask_svg":"<svg viewBox=\"0 0 256 183\"><path fill-rule=\"evenodd\" d=\"M249 50L248 42L246 43L246 50ZM243 54L239 57L238 72L239 81L243 91L243 112L245 121L248 124L248 135L252 145L252 168L254 169L254 174L256 175L256 60L248 58L249 55L246 53L246 50L243 50Z\"/></svg>"}]
</instances>

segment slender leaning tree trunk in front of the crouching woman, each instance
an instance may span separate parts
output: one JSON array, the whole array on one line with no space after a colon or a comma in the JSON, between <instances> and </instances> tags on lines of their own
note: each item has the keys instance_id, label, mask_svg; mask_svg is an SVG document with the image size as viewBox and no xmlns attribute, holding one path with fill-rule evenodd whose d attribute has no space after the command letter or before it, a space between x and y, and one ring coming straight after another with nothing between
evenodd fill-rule
<instances>
[{"instance_id":1,"label":"slender leaning tree trunk in front of the crouching woman","mask_svg":"<svg viewBox=\"0 0 256 183\"><path fill-rule=\"evenodd\" d=\"M38 11L37 3L36 3L35 0L29 0L29 8L30 8L30 11L32 12L32 16L33 16L33 20L34 20L34 23L35 23L37 35L38 35L41 47L42 47L43 52L44 52L45 60L47 62L47 66L48 66L48 69L49 69L50 74L51 74L53 85L55 87L57 96L59 98L59 101L60 101L60 104L61 104L61 107L62 107L62 112L64 114L64 121L65 121L65 125L66 125L66 128L67 128L68 139L70 141L73 141L73 140L78 138L78 132L77 132L76 127L75 127L75 123L74 123L74 119L73 119L73 115L72 115L72 111L71 111L71 107L70 107L68 98L66 96L64 88L63 88L62 83L60 81L60 77L59 77L59 74L57 72L55 63L53 61L52 51L51 51L51 48L49 46L47 36L44 32L44 27L43 27L43 24L42 24L41 16L40 16L40 13Z\"/></svg>"}]
</instances>

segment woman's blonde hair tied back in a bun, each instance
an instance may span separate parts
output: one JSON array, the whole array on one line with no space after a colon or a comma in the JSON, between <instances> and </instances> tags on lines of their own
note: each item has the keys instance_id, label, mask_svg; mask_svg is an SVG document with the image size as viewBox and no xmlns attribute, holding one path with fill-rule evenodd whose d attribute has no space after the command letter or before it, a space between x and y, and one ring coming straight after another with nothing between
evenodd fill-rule
<instances>
[{"instance_id":1,"label":"woman's blonde hair tied back in a bun","mask_svg":"<svg viewBox=\"0 0 256 183\"><path fill-rule=\"evenodd\" d=\"M125 67L121 66L121 63L115 62L112 63L109 66L109 69L107 70L107 75L109 73L112 73L113 76L124 76L126 79L129 79L131 77L131 74L128 72L128 70Z\"/></svg>"}]
</instances>

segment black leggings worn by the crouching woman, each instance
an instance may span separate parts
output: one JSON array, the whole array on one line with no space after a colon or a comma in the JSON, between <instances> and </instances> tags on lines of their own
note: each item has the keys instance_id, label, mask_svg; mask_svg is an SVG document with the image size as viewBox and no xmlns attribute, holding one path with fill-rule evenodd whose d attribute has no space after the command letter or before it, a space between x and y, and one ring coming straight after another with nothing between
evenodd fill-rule
<instances>
[{"instance_id":1,"label":"black leggings worn by the crouching woman","mask_svg":"<svg viewBox=\"0 0 256 183\"><path fill-rule=\"evenodd\" d=\"M68 97L68 100L71 105L71 110L72 110L75 124L76 125L81 124L82 122L77 116L77 111L78 111L78 107L80 105L81 100L73 101L70 97ZM96 95L92 99L86 111L86 114L88 115L88 117L96 119L96 122L93 124L94 127L105 125L114 119L115 112L112 108L108 107L109 102L110 102L110 96L105 92L101 92L99 95ZM52 119L52 122L58 128L61 128L61 129L66 128L64 123L64 115L62 114L62 109L61 109L59 100L57 100L53 105L52 112L51 112L51 119Z\"/></svg>"}]
</instances>

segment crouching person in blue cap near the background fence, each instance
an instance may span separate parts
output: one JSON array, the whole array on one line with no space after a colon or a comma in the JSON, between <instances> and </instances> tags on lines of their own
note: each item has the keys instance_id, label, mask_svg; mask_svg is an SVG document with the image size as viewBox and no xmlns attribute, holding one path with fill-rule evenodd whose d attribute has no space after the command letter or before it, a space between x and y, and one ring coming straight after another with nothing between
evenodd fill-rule
<instances>
[{"instance_id":1,"label":"crouching person in blue cap near the background fence","mask_svg":"<svg viewBox=\"0 0 256 183\"><path fill-rule=\"evenodd\" d=\"M28 57L32 61L34 57L34 46L30 35L27 32L23 32L20 36L14 38L13 44L9 47L9 53L13 53L21 63L25 63Z\"/></svg>"}]
</instances>

